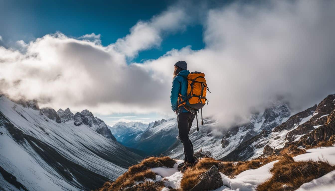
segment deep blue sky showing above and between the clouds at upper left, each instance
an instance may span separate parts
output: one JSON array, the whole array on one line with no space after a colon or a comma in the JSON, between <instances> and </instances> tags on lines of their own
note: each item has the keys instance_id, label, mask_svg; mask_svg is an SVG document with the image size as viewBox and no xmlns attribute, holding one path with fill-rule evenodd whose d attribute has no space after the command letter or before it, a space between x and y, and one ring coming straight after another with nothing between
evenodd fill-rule
<instances>
[{"instance_id":1,"label":"deep blue sky showing above and between the clouds at upper left","mask_svg":"<svg viewBox=\"0 0 335 191\"><path fill-rule=\"evenodd\" d=\"M26 43L46 34L62 32L67 36L101 34L103 45L114 43L129 34L139 20L149 20L176 1L0 1L0 35L4 42ZM160 47L139 52L132 62L157 59L171 49L191 45L204 47L200 23L186 30L166 34ZM10 43L9 43L10 44Z\"/></svg>"}]
</instances>

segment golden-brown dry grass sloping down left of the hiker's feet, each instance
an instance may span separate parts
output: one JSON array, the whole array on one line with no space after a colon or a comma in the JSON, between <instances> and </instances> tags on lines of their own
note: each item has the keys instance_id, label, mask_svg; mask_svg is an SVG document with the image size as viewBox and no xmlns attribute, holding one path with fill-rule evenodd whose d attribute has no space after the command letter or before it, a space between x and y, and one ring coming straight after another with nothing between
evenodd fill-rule
<instances>
[{"instance_id":1,"label":"golden-brown dry grass sloping down left of the hiker's feet","mask_svg":"<svg viewBox=\"0 0 335 191\"><path fill-rule=\"evenodd\" d=\"M176 161L170 157L149 157L144 159L141 163L129 167L128 171L119 176L115 182L106 182L98 191L117 191L122 187L133 185L135 181L144 181L145 178L154 180L156 174L152 172L150 168L162 166L172 168L174 164L176 164Z\"/></svg>"}]
</instances>

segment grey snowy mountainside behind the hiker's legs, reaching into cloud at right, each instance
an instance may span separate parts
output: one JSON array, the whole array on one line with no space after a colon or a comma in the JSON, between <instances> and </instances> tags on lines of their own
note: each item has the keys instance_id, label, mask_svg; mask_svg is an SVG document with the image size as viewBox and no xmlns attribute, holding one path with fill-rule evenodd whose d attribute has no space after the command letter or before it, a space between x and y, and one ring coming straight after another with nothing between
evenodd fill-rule
<instances>
[{"instance_id":1,"label":"grey snowy mountainside behind the hiker's legs, reaching into cloud at right","mask_svg":"<svg viewBox=\"0 0 335 191\"><path fill-rule=\"evenodd\" d=\"M239 145L261 133L268 131L282 122L286 121L291 115L291 111L286 103L277 101L272 103L264 112L252 114L250 122L233 126L229 130L220 127L220 124L211 118L204 119L204 125L196 128L194 121L190 130L189 137L192 140L194 151L203 149L209 151L214 158L222 158L239 147ZM213 129L221 130L224 136L214 134ZM178 136L178 129L177 129ZM175 139L174 144L164 153L175 159L183 159L183 146L179 138Z\"/></svg>"}]
</instances>

